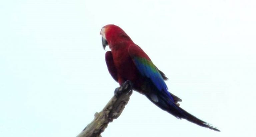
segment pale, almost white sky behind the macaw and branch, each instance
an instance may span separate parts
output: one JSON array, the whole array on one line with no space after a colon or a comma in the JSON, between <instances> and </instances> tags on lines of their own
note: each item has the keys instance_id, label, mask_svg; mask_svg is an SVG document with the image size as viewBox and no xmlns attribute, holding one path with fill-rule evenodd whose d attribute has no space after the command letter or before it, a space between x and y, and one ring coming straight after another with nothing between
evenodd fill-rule
<instances>
[{"instance_id":1,"label":"pale, almost white sky behind the macaw and branch","mask_svg":"<svg viewBox=\"0 0 256 137\"><path fill-rule=\"evenodd\" d=\"M0 5L0 136L74 137L118 87L100 30L115 24L169 78L179 120L133 92L103 137L255 137L253 0L23 0Z\"/></svg>"}]
</instances>

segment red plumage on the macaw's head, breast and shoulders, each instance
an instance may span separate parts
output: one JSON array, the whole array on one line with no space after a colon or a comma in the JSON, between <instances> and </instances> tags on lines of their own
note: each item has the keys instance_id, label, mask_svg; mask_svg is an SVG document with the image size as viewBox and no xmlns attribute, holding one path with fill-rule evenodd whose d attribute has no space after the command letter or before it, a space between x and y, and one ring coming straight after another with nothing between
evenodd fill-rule
<instances>
[{"instance_id":1,"label":"red plumage on the macaw's head, breast and shoulders","mask_svg":"<svg viewBox=\"0 0 256 137\"><path fill-rule=\"evenodd\" d=\"M108 51L105 54L106 63L111 76L118 81L119 85L126 80L130 80L134 84L134 87L139 90L138 87L140 87L139 84L143 78L140 77L128 52L129 47L138 46L134 44L131 38L118 26L106 25L104 27L106 28L105 37L112 53ZM142 50L134 50L134 52L148 58Z\"/></svg>"}]
</instances>

